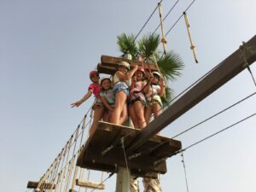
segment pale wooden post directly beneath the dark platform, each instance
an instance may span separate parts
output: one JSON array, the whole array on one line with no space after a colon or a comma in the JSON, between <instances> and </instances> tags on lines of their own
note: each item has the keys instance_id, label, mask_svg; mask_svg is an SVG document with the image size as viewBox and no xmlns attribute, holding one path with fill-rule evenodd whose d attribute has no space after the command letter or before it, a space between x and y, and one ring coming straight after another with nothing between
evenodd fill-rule
<instances>
[{"instance_id":1,"label":"pale wooden post directly beneath the dark platform","mask_svg":"<svg viewBox=\"0 0 256 192\"><path fill-rule=\"evenodd\" d=\"M119 170L116 177L116 189L118 192L130 192L131 191L131 174L126 167L119 166Z\"/></svg>"}]
</instances>

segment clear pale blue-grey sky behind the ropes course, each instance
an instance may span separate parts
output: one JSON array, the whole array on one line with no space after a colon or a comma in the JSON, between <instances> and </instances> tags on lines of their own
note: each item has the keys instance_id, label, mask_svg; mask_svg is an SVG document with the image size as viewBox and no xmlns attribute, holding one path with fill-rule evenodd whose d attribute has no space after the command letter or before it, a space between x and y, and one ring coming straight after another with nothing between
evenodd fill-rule
<instances>
[{"instance_id":1,"label":"clear pale blue-grey sky behind the ropes course","mask_svg":"<svg viewBox=\"0 0 256 192\"><path fill-rule=\"evenodd\" d=\"M175 2L163 1L163 15ZM191 2L177 3L164 22L166 32ZM28 180L43 176L90 107L92 99L70 108L87 90L89 71L101 55L119 56L116 37L122 32L137 34L156 4L0 0L1 191L26 191ZM183 76L170 83L176 95L255 35L255 10L255 0L195 1L187 14L199 64L189 49L183 18L166 37L167 49L179 53L185 64ZM158 24L159 15L154 14L142 34L153 32ZM256 76L256 65L251 69ZM255 90L244 70L162 134L172 137ZM255 107L253 96L177 139L189 146L255 113ZM184 152L189 191L255 192L255 128L254 117ZM180 155L167 162L163 191L186 191ZM104 191L114 191L113 183L115 177Z\"/></svg>"}]
</instances>

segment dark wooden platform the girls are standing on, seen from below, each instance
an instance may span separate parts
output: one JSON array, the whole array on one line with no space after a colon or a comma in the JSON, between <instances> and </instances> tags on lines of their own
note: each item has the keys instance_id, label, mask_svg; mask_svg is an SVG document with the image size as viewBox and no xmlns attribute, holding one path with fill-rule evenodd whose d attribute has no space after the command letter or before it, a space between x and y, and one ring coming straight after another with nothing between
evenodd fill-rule
<instances>
[{"instance_id":1,"label":"dark wooden platform the girls are standing on, seen from below","mask_svg":"<svg viewBox=\"0 0 256 192\"><path fill-rule=\"evenodd\" d=\"M136 151L124 154L124 149L119 143L121 137L125 137L125 148L134 142L140 130L122 125L113 125L106 122L99 122L96 132L89 138L79 155L77 166L104 172L117 172L118 166L125 167L125 155L131 174L137 177L156 177L158 173L166 173L166 161L162 161L157 166L154 162L162 158L172 156L177 150L182 148L181 142L167 137L154 136L148 139ZM113 143L119 145L110 149L107 154L104 151ZM162 143L160 145L160 143ZM155 148L159 146L158 148ZM154 148L148 151L149 148ZM139 152L147 152L137 158L129 160L129 157Z\"/></svg>"}]
</instances>

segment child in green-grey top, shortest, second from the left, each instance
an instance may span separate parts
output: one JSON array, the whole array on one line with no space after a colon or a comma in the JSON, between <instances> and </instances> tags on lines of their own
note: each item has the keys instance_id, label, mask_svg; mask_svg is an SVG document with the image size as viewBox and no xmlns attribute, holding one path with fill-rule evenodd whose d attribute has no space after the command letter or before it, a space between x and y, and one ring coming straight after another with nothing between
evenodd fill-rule
<instances>
[{"instance_id":1,"label":"child in green-grey top, shortest, second from the left","mask_svg":"<svg viewBox=\"0 0 256 192\"><path fill-rule=\"evenodd\" d=\"M111 80L109 78L102 78L101 80L101 100L105 107L103 120L110 122L112 119L112 113L114 108L114 95L111 87Z\"/></svg>"}]
</instances>

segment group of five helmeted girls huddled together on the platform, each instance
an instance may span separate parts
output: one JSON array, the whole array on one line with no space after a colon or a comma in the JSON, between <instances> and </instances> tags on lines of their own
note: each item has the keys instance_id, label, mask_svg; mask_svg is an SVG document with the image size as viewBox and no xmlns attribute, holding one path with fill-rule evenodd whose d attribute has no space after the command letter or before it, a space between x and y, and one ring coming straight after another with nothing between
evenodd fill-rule
<instances>
[{"instance_id":1,"label":"group of five helmeted girls huddled together on the platform","mask_svg":"<svg viewBox=\"0 0 256 192\"><path fill-rule=\"evenodd\" d=\"M113 80L102 78L94 70L90 72L90 84L87 93L78 102L73 102L73 107L79 107L92 94L95 96L94 119L90 127L89 135L96 131L99 120L116 125L123 125L128 116L131 117L135 128L143 129L148 125L152 113L154 117L160 114L162 102L160 97L164 95L165 84L160 73L146 73L143 68L133 67L121 61Z\"/></svg>"}]
</instances>

